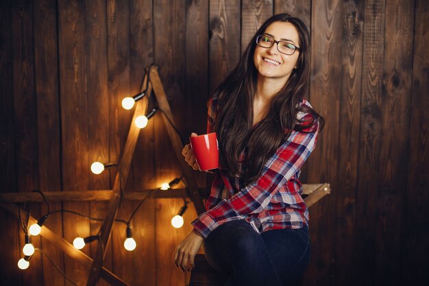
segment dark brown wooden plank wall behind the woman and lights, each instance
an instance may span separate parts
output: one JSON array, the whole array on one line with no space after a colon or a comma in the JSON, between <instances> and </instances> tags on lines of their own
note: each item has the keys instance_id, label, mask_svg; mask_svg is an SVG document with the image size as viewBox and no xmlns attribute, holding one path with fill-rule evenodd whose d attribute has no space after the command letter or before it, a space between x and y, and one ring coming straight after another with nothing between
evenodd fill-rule
<instances>
[{"instance_id":1,"label":"dark brown wooden plank wall behind the woman and lights","mask_svg":"<svg viewBox=\"0 0 429 286\"><path fill-rule=\"evenodd\" d=\"M279 12L310 27L309 99L327 122L302 177L332 185L310 209L305 285L428 283L426 0L1 0L0 191L111 188L114 171L95 176L90 163L119 160L132 117L121 99L140 90L152 62L182 134L204 132L210 91L262 21ZM140 132L126 189L159 187L180 174L157 114ZM119 218L136 204L124 202ZM103 217L106 205L51 208ZM125 227L115 224L106 266L131 285L186 285L171 255L196 213L189 208L186 226L175 230L169 221L181 206L181 199L145 202L132 222L134 252L123 249ZM32 204L34 216L45 211ZM63 214L47 226L73 241L100 224ZM71 285L37 252L20 271L23 231L1 209L0 228L1 285ZM88 270L49 242L34 243L85 284Z\"/></svg>"}]
</instances>

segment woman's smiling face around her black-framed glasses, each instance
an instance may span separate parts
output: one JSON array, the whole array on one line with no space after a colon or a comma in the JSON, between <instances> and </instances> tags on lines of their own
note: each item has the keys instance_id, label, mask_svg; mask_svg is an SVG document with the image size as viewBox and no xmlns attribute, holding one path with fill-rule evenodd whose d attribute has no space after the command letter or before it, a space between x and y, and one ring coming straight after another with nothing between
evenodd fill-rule
<instances>
[{"instance_id":1,"label":"woman's smiling face around her black-framed glasses","mask_svg":"<svg viewBox=\"0 0 429 286\"><path fill-rule=\"evenodd\" d=\"M299 47L299 35L295 26L289 22L274 22L265 29L264 35L270 36L274 40L286 40L296 47ZM297 65L299 51L295 51L289 56L280 53L278 44L271 48L256 45L254 53L254 64L258 70L258 78L277 79L286 84L293 69ZM262 78L261 78L262 77Z\"/></svg>"}]
</instances>

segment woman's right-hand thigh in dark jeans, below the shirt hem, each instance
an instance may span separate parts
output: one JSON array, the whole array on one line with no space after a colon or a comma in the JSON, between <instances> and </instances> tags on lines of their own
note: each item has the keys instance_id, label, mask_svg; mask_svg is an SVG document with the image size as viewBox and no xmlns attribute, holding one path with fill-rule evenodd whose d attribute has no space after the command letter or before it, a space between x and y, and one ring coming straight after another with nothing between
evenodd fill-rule
<instances>
[{"instance_id":1,"label":"woman's right-hand thigh in dark jeans, below the shirt hem","mask_svg":"<svg viewBox=\"0 0 429 286\"><path fill-rule=\"evenodd\" d=\"M268 230L261 237L282 283L290 285L298 281L310 261L308 227Z\"/></svg>"}]
</instances>

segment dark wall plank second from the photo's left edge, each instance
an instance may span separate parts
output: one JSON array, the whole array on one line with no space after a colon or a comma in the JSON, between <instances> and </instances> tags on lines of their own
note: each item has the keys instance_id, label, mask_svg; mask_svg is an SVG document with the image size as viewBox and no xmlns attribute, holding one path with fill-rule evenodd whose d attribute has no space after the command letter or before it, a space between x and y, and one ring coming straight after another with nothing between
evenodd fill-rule
<instances>
[{"instance_id":1,"label":"dark wall plank second from the photo's left edge","mask_svg":"<svg viewBox=\"0 0 429 286\"><path fill-rule=\"evenodd\" d=\"M16 189L29 191L39 186L32 3L12 3L11 16L15 161L16 176L19 178ZM40 215L38 204L32 204L31 208L34 215ZM19 248L22 250L25 244L23 230L20 230L19 237ZM40 248L40 237L33 237L31 242L35 248ZM23 285L43 283L42 258L39 255L33 258L32 267L22 276Z\"/></svg>"}]
</instances>

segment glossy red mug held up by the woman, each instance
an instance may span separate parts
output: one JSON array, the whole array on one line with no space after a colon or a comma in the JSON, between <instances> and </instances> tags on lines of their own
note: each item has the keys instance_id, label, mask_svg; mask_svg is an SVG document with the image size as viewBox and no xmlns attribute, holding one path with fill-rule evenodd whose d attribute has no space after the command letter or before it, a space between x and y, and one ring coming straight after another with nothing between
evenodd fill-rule
<instances>
[{"instance_id":1,"label":"glossy red mug held up by the woman","mask_svg":"<svg viewBox=\"0 0 429 286\"><path fill-rule=\"evenodd\" d=\"M216 132L189 137L189 141L201 171L219 167L219 144Z\"/></svg>"}]
</instances>

